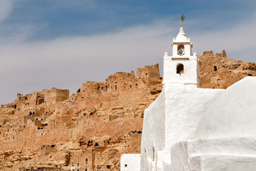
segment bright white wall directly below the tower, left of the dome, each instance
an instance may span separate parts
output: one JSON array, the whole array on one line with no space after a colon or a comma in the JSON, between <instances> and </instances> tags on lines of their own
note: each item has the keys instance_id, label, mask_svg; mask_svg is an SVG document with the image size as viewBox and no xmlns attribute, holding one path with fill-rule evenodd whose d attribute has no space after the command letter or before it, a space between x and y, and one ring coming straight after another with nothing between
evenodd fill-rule
<instances>
[{"instance_id":1,"label":"bright white wall directly below the tower, left of the dome","mask_svg":"<svg viewBox=\"0 0 256 171\"><path fill-rule=\"evenodd\" d=\"M165 84L165 148L195 138L201 115L223 91Z\"/></svg>"}]
</instances>

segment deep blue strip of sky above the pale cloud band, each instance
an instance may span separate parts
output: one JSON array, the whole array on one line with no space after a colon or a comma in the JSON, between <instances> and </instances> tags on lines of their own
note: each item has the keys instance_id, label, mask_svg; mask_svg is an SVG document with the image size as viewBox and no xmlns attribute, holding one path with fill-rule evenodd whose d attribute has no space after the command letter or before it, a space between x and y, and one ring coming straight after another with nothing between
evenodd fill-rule
<instances>
[{"instance_id":1,"label":"deep blue strip of sky above the pale cloud band","mask_svg":"<svg viewBox=\"0 0 256 171\"><path fill-rule=\"evenodd\" d=\"M179 19L181 13L188 20L205 21L200 29L220 29L250 19L255 14L255 1L16 0L11 3L11 8L2 24L30 25L34 31L29 35L31 41L121 31L155 20ZM6 33L9 35L13 31L8 29Z\"/></svg>"}]
</instances>

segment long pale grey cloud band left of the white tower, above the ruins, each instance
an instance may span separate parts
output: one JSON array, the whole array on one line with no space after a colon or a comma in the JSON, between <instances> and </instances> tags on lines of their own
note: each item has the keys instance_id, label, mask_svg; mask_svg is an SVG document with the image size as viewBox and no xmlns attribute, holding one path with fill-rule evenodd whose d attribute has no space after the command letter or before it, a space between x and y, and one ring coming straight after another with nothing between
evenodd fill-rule
<instances>
[{"instance_id":1,"label":"long pale grey cloud band left of the white tower, above the ruins","mask_svg":"<svg viewBox=\"0 0 256 171\"><path fill-rule=\"evenodd\" d=\"M88 80L104 81L117 71L162 63L164 51L170 49L171 38L165 36L171 29L160 23L118 33L3 44L0 102L53 86L74 92Z\"/></svg>"}]
</instances>

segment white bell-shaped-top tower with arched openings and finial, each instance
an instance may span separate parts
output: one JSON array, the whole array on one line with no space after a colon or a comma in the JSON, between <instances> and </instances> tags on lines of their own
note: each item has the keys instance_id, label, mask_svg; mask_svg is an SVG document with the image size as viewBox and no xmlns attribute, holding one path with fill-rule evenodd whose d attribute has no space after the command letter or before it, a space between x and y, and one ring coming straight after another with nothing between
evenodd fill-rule
<instances>
[{"instance_id":1,"label":"white bell-shaped-top tower with arched openings and finial","mask_svg":"<svg viewBox=\"0 0 256 171\"><path fill-rule=\"evenodd\" d=\"M183 29L185 16L181 16L180 32L173 38L173 56L165 52L163 57L163 84L182 83L199 87L199 65L196 54L191 54L193 44Z\"/></svg>"}]
</instances>

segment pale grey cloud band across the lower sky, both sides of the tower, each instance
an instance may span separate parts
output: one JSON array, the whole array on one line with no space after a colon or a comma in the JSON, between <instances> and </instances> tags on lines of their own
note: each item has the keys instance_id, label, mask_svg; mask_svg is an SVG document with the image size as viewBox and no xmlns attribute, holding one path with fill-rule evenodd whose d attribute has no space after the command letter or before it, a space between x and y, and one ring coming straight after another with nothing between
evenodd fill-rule
<instances>
[{"instance_id":1,"label":"pale grey cloud band across the lower sky, both sides of the tower","mask_svg":"<svg viewBox=\"0 0 256 171\"><path fill-rule=\"evenodd\" d=\"M5 14L0 21L4 21L9 12ZM43 88L68 88L73 93L86 81L105 81L114 72L135 70L154 63L159 63L162 71L163 53L171 53L171 42L180 26L178 19L163 18L148 25L91 36L61 36L50 41L28 41L43 24L2 25L0 103L13 101L16 93L26 94ZM225 49L229 58L256 62L252 56L256 48L255 15L247 22L216 29L205 29L204 24L205 21L200 19L185 23L185 32L194 44L194 52L201 54Z\"/></svg>"}]
</instances>

